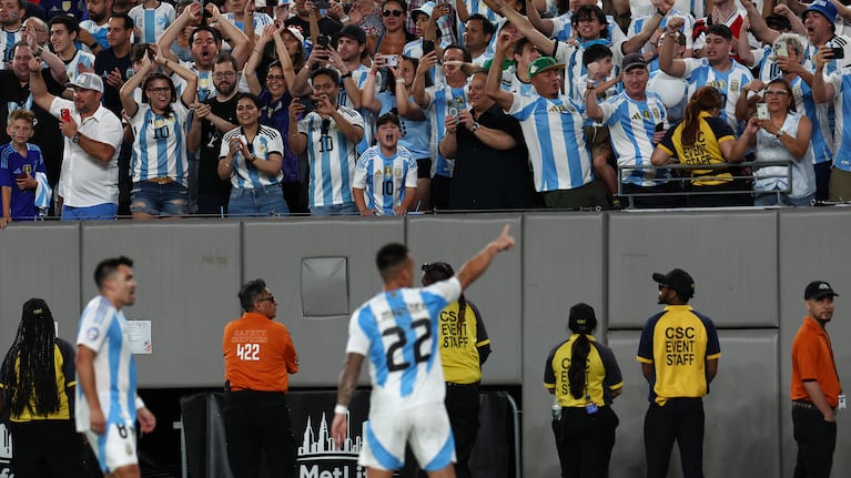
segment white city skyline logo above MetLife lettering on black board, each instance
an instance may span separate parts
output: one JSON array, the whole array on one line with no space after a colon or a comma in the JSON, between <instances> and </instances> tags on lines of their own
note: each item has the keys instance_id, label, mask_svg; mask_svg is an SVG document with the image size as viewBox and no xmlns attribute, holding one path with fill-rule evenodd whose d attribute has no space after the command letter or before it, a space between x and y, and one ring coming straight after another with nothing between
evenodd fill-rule
<instances>
[{"instance_id":1,"label":"white city skyline logo above MetLife lettering on black board","mask_svg":"<svg viewBox=\"0 0 851 478\"><path fill-rule=\"evenodd\" d=\"M363 437L352 436L348 429L343 446L336 449L325 413L321 414L317 429L312 425L313 417L307 415L302 445L298 447L298 478L365 478L366 469L357 465ZM351 427L352 421L348 424ZM361 421L355 424L359 426Z\"/></svg>"}]
</instances>

